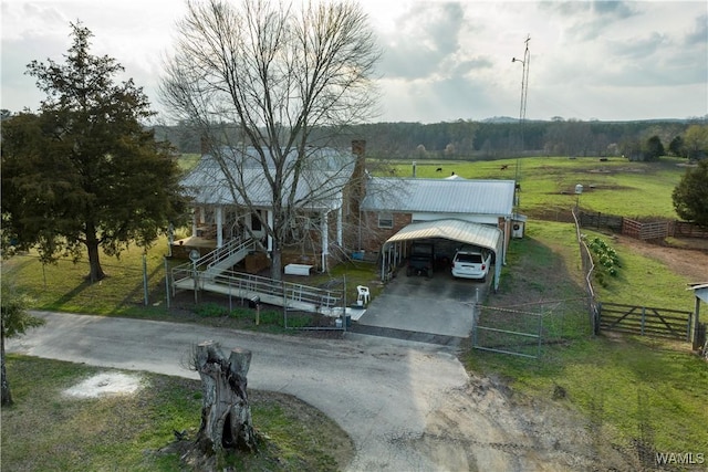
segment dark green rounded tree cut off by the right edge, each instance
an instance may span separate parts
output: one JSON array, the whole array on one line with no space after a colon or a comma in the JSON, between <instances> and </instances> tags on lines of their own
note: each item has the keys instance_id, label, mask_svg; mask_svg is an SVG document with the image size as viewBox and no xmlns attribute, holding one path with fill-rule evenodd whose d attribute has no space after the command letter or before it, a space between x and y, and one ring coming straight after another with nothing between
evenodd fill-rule
<instances>
[{"instance_id":1,"label":"dark green rounded tree cut off by the right edge","mask_svg":"<svg viewBox=\"0 0 708 472\"><path fill-rule=\"evenodd\" d=\"M671 193L676 213L685 220L708 227L708 159L686 170Z\"/></svg>"}]
</instances>

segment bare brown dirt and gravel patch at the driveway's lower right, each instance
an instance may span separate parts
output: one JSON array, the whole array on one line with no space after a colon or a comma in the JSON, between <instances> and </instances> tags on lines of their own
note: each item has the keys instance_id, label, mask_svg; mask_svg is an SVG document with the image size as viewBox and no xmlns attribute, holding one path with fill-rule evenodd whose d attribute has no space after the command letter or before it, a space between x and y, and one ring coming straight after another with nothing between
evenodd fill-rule
<instances>
[{"instance_id":1,"label":"bare brown dirt and gravel patch at the driveway's lower right","mask_svg":"<svg viewBox=\"0 0 708 472\"><path fill-rule=\"evenodd\" d=\"M635 454L608 444L565 401L562 392L529 401L504 382L472 377L429 416L423 436L408 441L442 470L639 470Z\"/></svg>"}]
</instances>

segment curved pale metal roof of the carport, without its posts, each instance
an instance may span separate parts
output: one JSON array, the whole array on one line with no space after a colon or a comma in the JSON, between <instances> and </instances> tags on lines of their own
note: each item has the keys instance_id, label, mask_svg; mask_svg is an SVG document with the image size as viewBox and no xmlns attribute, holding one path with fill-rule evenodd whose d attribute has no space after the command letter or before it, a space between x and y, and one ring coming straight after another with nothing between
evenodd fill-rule
<instances>
[{"instance_id":1,"label":"curved pale metal roof of the carport, without its posts","mask_svg":"<svg viewBox=\"0 0 708 472\"><path fill-rule=\"evenodd\" d=\"M498 252L501 247L501 230L499 228L455 219L410 223L388 238L386 244L427 238L445 238L461 243L489 248L494 252Z\"/></svg>"}]
</instances>

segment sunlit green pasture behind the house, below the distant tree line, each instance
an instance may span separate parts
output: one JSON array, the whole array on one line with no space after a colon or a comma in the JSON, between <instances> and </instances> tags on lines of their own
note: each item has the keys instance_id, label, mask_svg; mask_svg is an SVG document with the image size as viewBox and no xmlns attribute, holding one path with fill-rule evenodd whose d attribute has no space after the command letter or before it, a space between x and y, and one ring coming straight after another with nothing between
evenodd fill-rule
<instances>
[{"instance_id":1,"label":"sunlit green pasture behind the house, below the distant tree line","mask_svg":"<svg viewBox=\"0 0 708 472\"><path fill-rule=\"evenodd\" d=\"M521 213L568 211L576 203L575 185L583 186L580 207L586 211L634 217L676 219L671 191L685 159L663 157L656 162L632 162L620 157L525 157L485 161L416 161L416 176L444 178L451 172L468 179L514 179L521 185ZM507 166L504 170L502 167ZM396 175L409 177L410 164L393 165ZM437 172L437 168L442 168Z\"/></svg>"}]
</instances>

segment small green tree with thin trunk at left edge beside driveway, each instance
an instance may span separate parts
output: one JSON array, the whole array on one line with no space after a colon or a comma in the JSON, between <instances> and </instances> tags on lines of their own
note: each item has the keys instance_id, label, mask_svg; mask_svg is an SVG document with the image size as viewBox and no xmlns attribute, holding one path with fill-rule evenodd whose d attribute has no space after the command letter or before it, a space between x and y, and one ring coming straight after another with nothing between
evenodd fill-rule
<instances>
[{"instance_id":1,"label":"small green tree with thin trunk at left edge beside driveway","mask_svg":"<svg viewBox=\"0 0 708 472\"><path fill-rule=\"evenodd\" d=\"M0 301L0 354L2 355L2 405L12 405L12 392L6 370L4 339L24 334L28 329L44 324L44 319L31 316L27 308L29 298L18 292L2 277L2 300Z\"/></svg>"}]
</instances>

